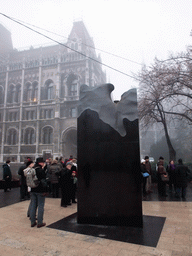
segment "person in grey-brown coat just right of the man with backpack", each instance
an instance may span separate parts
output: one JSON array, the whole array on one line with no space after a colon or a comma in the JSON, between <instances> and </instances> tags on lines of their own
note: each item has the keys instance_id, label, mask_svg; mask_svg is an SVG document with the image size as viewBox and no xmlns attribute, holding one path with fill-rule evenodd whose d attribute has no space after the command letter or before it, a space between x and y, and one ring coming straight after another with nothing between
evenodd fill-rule
<instances>
[{"instance_id":1,"label":"person in grey-brown coat just right of the man with backpack","mask_svg":"<svg viewBox=\"0 0 192 256\"><path fill-rule=\"evenodd\" d=\"M60 173L60 165L58 165L57 160L53 160L48 168L48 175L51 183L51 191L53 197L59 197L59 173Z\"/></svg>"}]
</instances>

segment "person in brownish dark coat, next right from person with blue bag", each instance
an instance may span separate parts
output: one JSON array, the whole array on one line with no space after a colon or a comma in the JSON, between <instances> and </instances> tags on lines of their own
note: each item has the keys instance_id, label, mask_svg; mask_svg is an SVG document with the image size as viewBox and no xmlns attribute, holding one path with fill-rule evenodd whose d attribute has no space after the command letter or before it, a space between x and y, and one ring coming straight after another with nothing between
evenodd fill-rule
<instances>
[{"instance_id":1,"label":"person in brownish dark coat, next right from person with blue bag","mask_svg":"<svg viewBox=\"0 0 192 256\"><path fill-rule=\"evenodd\" d=\"M166 194L166 179L167 173L164 168L164 161L160 160L157 168L157 177L158 177L158 192L161 196L168 196Z\"/></svg>"}]
</instances>

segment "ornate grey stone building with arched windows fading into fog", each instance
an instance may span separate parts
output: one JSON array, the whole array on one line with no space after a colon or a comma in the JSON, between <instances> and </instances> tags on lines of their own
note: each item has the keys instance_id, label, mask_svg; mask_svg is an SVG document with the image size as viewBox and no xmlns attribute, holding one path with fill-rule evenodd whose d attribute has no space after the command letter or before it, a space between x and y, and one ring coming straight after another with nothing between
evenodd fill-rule
<instances>
[{"instance_id":1,"label":"ornate grey stone building with arched windows fading into fog","mask_svg":"<svg viewBox=\"0 0 192 256\"><path fill-rule=\"evenodd\" d=\"M76 157L80 86L106 82L84 23L74 22L65 45L24 51L2 25L0 35L0 161Z\"/></svg>"}]
</instances>

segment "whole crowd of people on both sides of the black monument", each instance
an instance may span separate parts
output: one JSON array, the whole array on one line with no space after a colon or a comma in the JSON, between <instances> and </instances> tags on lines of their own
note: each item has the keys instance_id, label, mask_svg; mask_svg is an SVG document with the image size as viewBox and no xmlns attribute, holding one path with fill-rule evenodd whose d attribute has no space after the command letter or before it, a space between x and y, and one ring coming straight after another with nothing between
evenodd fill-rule
<instances>
[{"instance_id":1,"label":"whole crowd of people on both sides of the black monument","mask_svg":"<svg viewBox=\"0 0 192 256\"><path fill-rule=\"evenodd\" d=\"M35 169L38 183L35 187L29 187L26 182L26 170ZM31 227L37 225L38 228L46 225L43 222L45 197L61 197L61 207L68 207L76 201L77 179L78 179L77 159L70 156L63 161L63 158L44 159L38 157L35 162L27 158L18 174L20 175L20 200L30 199L27 216L31 220ZM175 165L171 160L167 167L164 166L164 158L159 157L156 164L156 177L158 193L162 197L167 197L169 192L175 193L175 197L186 198L186 187L188 184L189 169L183 164L182 159ZM152 190L152 167L149 157L145 156L141 160L142 192L146 196L153 193ZM4 191L11 190L12 174L10 160L3 165L3 179L5 181ZM38 213L37 213L38 210ZM36 215L37 214L37 215Z\"/></svg>"}]
</instances>

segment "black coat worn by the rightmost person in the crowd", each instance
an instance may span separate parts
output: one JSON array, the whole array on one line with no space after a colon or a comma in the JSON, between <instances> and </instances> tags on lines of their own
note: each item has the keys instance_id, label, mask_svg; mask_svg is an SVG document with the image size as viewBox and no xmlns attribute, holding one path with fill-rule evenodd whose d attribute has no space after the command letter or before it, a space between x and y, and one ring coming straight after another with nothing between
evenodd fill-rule
<instances>
[{"instance_id":1,"label":"black coat worn by the rightmost person in the crowd","mask_svg":"<svg viewBox=\"0 0 192 256\"><path fill-rule=\"evenodd\" d=\"M179 164L175 169L175 185L177 187L187 187L189 173L187 166Z\"/></svg>"}]
</instances>

